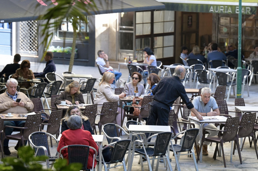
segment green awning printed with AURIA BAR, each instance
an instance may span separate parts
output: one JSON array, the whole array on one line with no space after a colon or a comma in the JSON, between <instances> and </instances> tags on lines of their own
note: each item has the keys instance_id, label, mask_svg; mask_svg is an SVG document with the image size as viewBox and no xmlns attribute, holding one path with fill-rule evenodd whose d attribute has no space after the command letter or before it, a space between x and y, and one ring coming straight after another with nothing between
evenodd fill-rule
<instances>
[{"instance_id":1,"label":"green awning printed with AURIA BAR","mask_svg":"<svg viewBox=\"0 0 258 171\"><path fill-rule=\"evenodd\" d=\"M165 10L202 13L238 14L238 0L157 0L165 4ZM242 0L242 14L256 14L257 0Z\"/></svg>"}]
</instances>

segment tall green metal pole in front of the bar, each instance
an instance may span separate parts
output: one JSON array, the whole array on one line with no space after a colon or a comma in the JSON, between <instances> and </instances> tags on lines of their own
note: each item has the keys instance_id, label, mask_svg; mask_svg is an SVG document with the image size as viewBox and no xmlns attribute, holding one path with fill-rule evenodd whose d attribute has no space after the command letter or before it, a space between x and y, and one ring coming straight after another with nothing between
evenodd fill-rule
<instances>
[{"instance_id":1,"label":"tall green metal pole in front of the bar","mask_svg":"<svg viewBox=\"0 0 258 171\"><path fill-rule=\"evenodd\" d=\"M241 98L242 90L242 66L241 66L241 41L242 38L242 0L239 0L239 13L238 13L238 66L236 74L236 98Z\"/></svg>"}]
</instances>

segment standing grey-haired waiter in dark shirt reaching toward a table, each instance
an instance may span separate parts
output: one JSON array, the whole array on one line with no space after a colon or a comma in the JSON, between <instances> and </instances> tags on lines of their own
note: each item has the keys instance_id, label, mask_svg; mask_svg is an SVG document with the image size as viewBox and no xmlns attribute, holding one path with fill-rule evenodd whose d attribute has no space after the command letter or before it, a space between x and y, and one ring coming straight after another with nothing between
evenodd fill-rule
<instances>
[{"instance_id":1,"label":"standing grey-haired waiter in dark shirt reaching toward a table","mask_svg":"<svg viewBox=\"0 0 258 171\"><path fill-rule=\"evenodd\" d=\"M172 77L162 77L152 92L154 97L150 104L147 125L156 125L157 123L157 125L168 126L170 106L173 106L173 103L179 96L183 102L185 102L187 108L190 109L199 120L203 119L190 102L186 95L185 87L180 82L180 79L184 77L185 68L181 65L177 65Z\"/></svg>"}]
</instances>

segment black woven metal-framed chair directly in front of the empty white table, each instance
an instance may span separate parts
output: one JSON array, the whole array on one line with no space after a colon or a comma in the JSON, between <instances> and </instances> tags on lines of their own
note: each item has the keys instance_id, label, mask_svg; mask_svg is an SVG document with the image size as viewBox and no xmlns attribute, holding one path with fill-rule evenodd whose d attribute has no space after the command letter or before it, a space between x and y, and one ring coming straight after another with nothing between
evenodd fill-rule
<instances>
[{"instance_id":1,"label":"black woven metal-framed chair directly in front of the empty white table","mask_svg":"<svg viewBox=\"0 0 258 171\"><path fill-rule=\"evenodd\" d=\"M148 167L149 167L150 171L153 170L153 165L154 165L154 162L152 163L152 165L150 164L150 160L158 160L157 165L156 165L156 168L158 168L159 167L159 159L161 158L160 156L163 156L162 158L167 160L169 170L172 171L172 167L171 167L171 164L169 161L169 156L167 154L167 148L169 146L169 142L170 142L170 139L172 136L173 136L172 132L161 132L158 134L154 134L153 136L150 136L145 141L135 140L134 144L133 144L132 161L131 161L131 165L129 166L130 168L128 170L130 170L132 168L134 153L138 153L138 154L140 154L141 163L142 163L142 155L146 156L147 161L148 161ZM144 144L153 137L156 137L154 147L153 148L145 147ZM136 143L142 144L142 148L136 149L135 148ZM158 158L155 158L156 156ZM150 157L153 157L153 158L150 159ZM142 165L142 170L143 170L143 165Z\"/></svg>"}]
</instances>

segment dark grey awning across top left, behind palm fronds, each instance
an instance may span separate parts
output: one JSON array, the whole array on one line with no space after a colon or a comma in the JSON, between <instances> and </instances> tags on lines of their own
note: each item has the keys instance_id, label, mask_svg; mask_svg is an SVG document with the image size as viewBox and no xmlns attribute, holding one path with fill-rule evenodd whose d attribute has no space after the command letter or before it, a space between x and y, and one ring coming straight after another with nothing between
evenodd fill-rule
<instances>
[{"instance_id":1,"label":"dark grey awning across top left, behind palm fronds","mask_svg":"<svg viewBox=\"0 0 258 171\"><path fill-rule=\"evenodd\" d=\"M165 5L155 0L95 0L98 11L89 11L85 15L121 13L164 9ZM40 4L40 9L36 5ZM52 7L44 5L44 0L4 0L0 6L1 23L36 20L39 15Z\"/></svg>"}]
</instances>

